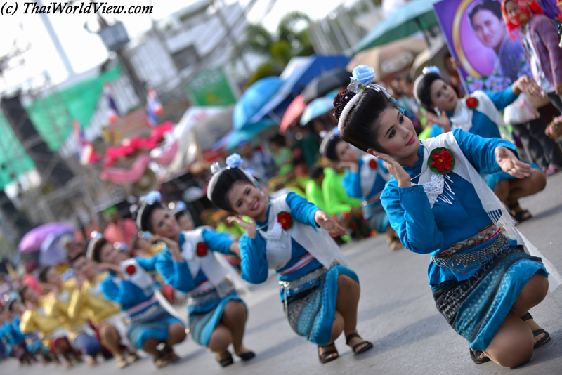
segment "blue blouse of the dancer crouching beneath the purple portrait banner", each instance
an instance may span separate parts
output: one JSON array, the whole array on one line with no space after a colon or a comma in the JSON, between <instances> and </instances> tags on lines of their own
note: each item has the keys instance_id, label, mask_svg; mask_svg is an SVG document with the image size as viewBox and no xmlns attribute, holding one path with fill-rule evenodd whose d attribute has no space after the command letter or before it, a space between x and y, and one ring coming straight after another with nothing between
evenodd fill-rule
<instances>
[{"instance_id":1,"label":"blue blouse of the dancer crouching beneath the purple portrait banner","mask_svg":"<svg viewBox=\"0 0 562 375\"><path fill-rule=\"evenodd\" d=\"M497 93L492 93L491 91L484 91L484 93L492 99L498 111L504 110L505 107L514 103L517 99L517 96L513 92L513 85ZM452 113L447 113L447 117L451 118ZM472 127L470 132L484 138L502 138L497 124L482 112L478 112L478 110L474 110L472 115ZM443 129L434 124L431 128L431 136L435 137L440 133L443 133Z\"/></svg>"}]
</instances>

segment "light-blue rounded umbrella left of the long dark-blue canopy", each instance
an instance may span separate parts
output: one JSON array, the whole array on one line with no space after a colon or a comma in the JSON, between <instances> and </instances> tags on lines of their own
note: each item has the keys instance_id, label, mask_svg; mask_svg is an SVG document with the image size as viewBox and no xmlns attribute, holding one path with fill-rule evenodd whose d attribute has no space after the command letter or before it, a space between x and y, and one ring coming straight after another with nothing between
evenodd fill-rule
<instances>
[{"instance_id":1,"label":"light-blue rounded umbrella left of the long dark-blue canopy","mask_svg":"<svg viewBox=\"0 0 562 375\"><path fill-rule=\"evenodd\" d=\"M234 107L233 128L235 130L243 129L244 126L256 123L257 121L250 120L251 117L268 103L282 83L283 81L279 77L266 77L249 86Z\"/></svg>"}]
</instances>

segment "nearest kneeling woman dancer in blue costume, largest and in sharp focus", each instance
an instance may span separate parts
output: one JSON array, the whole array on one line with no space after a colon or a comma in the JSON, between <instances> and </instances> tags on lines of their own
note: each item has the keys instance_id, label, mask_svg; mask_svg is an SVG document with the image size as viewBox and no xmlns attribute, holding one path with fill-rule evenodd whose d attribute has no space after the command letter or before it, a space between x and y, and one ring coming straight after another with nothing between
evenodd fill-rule
<instances>
[{"instance_id":1,"label":"nearest kneeling woman dancer in blue costume, largest and in sharp focus","mask_svg":"<svg viewBox=\"0 0 562 375\"><path fill-rule=\"evenodd\" d=\"M370 83L371 68L356 67L353 77L334 99L341 138L386 162L393 178L382 204L406 248L431 254L429 283L438 310L469 341L474 362L527 362L549 340L528 313L547 294L546 268L551 290L562 279L516 230L479 173L523 178L534 171L499 138L456 129L421 144L396 101Z\"/></svg>"}]
</instances>

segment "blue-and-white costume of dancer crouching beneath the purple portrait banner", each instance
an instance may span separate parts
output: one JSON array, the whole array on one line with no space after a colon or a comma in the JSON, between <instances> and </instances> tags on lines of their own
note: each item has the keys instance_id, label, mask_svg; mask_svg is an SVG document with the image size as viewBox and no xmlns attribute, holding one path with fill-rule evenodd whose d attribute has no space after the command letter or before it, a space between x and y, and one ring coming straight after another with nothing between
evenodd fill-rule
<instances>
[{"instance_id":1,"label":"blue-and-white costume of dancer crouching beneath the purple portrait banner","mask_svg":"<svg viewBox=\"0 0 562 375\"><path fill-rule=\"evenodd\" d=\"M475 108L470 109L466 104L468 98L461 98L457 101L457 106L455 107L455 112L452 114L447 113L451 121L451 130L462 129L470 133L476 134L483 138L502 138L499 132L499 126L502 129L506 129L504 119L499 111L504 110L505 107L514 103L517 96L512 90L512 86L509 86L504 91L499 91L497 93L492 93L490 91L474 91L471 93L471 98L476 98L478 104ZM431 136L437 136L443 133L443 129L433 125L431 130ZM435 130L434 130L435 129ZM534 169L540 169L540 166L536 164L530 164ZM504 171L499 171L497 173L490 173L485 176L485 181L494 190L495 186L500 180L505 180L506 178L515 178L509 173Z\"/></svg>"}]
</instances>

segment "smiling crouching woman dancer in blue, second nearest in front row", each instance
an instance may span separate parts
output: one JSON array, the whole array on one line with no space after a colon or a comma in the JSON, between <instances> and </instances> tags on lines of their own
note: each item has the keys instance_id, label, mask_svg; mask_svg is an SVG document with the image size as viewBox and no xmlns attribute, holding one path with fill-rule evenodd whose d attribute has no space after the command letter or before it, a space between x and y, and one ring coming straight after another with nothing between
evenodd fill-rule
<instances>
[{"instance_id":1,"label":"smiling crouching woman dancer in blue, second nearest in front row","mask_svg":"<svg viewBox=\"0 0 562 375\"><path fill-rule=\"evenodd\" d=\"M275 270L285 316L297 334L319 346L320 362L339 357L334 340L342 331L355 353L372 348L356 329L358 277L327 232L345 235L344 228L292 192L268 199L254 178L237 168L237 154L227 164L215 171L207 196L219 209L250 218L249 223L229 218L246 230L240 237L242 278L258 284Z\"/></svg>"}]
</instances>

